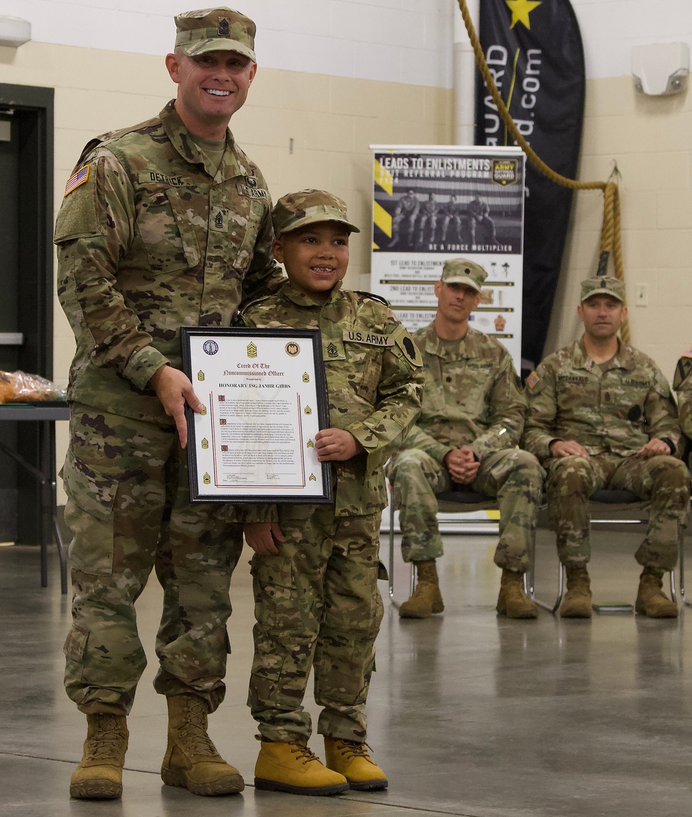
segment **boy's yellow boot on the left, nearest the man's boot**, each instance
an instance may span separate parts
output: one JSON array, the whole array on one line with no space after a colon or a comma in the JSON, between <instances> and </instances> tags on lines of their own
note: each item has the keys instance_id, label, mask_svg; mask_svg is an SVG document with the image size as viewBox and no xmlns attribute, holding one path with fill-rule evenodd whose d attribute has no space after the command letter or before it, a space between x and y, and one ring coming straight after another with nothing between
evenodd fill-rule
<instances>
[{"instance_id":1,"label":"boy's yellow boot on the left, nearest the man's boot","mask_svg":"<svg viewBox=\"0 0 692 817\"><path fill-rule=\"evenodd\" d=\"M255 764L255 788L289 794L339 794L348 790L348 783L301 743L262 740Z\"/></svg>"}]
</instances>

